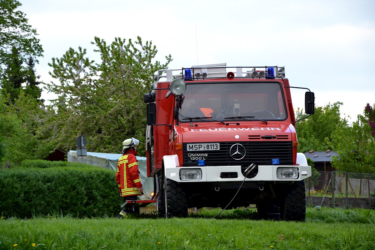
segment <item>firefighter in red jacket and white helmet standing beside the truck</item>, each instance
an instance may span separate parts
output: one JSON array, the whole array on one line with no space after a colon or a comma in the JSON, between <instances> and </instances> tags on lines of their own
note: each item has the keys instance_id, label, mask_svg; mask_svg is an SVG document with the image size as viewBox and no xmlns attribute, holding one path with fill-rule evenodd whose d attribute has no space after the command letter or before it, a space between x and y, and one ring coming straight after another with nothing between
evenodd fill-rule
<instances>
[{"instance_id":1,"label":"firefighter in red jacket and white helmet standing beside the truck","mask_svg":"<svg viewBox=\"0 0 375 250\"><path fill-rule=\"evenodd\" d=\"M139 141L129 138L122 142L123 154L117 162L116 181L118 191L125 201L136 201L138 195L143 194L141 180L139 179L138 161L135 158ZM117 218L121 219L125 214L139 215L139 208L126 207L121 210Z\"/></svg>"}]
</instances>

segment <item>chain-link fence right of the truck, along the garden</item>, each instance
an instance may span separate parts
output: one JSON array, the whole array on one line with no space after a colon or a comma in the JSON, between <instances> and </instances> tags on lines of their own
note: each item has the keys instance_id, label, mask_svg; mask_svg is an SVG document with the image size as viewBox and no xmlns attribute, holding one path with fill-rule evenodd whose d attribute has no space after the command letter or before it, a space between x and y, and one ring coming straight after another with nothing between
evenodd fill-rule
<instances>
[{"instance_id":1,"label":"chain-link fence right of the truck, along the garden","mask_svg":"<svg viewBox=\"0 0 375 250\"><path fill-rule=\"evenodd\" d=\"M375 174L317 171L306 179L307 206L375 208Z\"/></svg>"}]
</instances>

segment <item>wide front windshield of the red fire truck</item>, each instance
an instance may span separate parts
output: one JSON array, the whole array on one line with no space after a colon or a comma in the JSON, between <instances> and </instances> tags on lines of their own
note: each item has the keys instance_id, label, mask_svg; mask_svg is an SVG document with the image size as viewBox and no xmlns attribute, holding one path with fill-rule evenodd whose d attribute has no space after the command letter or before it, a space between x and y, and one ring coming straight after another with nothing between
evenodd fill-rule
<instances>
[{"instance_id":1,"label":"wide front windshield of the red fire truck","mask_svg":"<svg viewBox=\"0 0 375 250\"><path fill-rule=\"evenodd\" d=\"M215 120L285 120L285 100L277 82L188 84L179 111L181 122ZM198 119L207 117L208 119Z\"/></svg>"}]
</instances>

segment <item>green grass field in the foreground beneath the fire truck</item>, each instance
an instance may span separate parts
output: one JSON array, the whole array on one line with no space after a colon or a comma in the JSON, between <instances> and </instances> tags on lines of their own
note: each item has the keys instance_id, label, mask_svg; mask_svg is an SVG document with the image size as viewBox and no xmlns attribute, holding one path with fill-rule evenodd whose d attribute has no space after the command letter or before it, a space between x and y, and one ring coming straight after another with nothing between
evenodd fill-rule
<instances>
[{"instance_id":1,"label":"green grass field in the foreground beneath the fire truck","mask_svg":"<svg viewBox=\"0 0 375 250\"><path fill-rule=\"evenodd\" d=\"M0 249L375 249L372 210L308 208L306 222L255 220L255 210L188 218L0 219Z\"/></svg>"}]
</instances>

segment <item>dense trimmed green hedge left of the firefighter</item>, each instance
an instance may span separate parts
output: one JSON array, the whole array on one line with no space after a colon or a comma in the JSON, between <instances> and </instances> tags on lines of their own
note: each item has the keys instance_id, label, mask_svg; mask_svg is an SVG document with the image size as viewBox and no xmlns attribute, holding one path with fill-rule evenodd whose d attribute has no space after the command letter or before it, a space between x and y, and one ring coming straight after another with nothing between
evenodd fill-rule
<instances>
[{"instance_id":1,"label":"dense trimmed green hedge left of the firefighter","mask_svg":"<svg viewBox=\"0 0 375 250\"><path fill-rule=\"evenodd\" d=\"M120 211L123 201L115 171L82 163L25 162L28 168L0 169L1 216L97 217L114 216ZM51 168L43 164L66 166Z\"/></svg>"}]
</instances>

